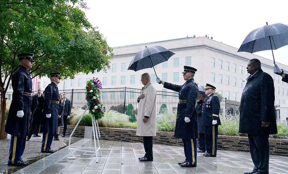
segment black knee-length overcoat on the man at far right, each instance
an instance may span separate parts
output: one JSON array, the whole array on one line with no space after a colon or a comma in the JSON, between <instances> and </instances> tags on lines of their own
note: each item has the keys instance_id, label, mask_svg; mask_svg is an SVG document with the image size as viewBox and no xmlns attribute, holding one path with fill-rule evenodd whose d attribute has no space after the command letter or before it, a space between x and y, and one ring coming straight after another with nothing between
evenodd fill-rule
<instances>
[{"instance_id":1,"label":"black knee-length overcoat on the man at far right","mask_svg":"<svg viewBox=\"0 0 288 174\"><path fill-rule=\"evenodd\" d=\"M277 134L275 116L275 93L272 77L258 70L247 78L240 104L239 133L252 135ZM269 127L262 128L261 121L270 123Z\"/></svg>"}]
</instances>

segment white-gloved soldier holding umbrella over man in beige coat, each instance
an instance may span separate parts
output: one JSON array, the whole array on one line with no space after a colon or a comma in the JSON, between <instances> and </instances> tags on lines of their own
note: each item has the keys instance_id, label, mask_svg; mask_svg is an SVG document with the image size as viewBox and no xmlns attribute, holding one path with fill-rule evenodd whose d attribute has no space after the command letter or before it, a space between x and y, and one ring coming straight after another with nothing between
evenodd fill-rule
<instances>
[{"instance_id":1,"label":"white-gloved soldier holding umbrella over man in beige coat","mask_svg":"<svg viewBox=\"0 0 288 174\"><path fill-rule=\"evenodd\" d=\"M164 88L179 92L177 107L177 119L174 137L182 138L184 143L185 161L178 163L181 167L197 166L197 140L198 118L195 104L198 95L198 86L194 81L197 69L184 66L183 77L186 82L183 85L174 85L164 82L157 77L156 81L164 85Z\"/></svg>"}]
</instances>

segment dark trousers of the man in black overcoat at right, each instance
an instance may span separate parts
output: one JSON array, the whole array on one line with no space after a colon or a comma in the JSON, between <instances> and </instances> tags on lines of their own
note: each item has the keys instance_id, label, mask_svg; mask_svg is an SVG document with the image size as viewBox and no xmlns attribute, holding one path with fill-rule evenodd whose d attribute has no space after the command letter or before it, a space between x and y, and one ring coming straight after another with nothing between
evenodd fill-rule
<instances>
[{"instance_id":1,"label":"dark trousers of the man in black overcoat at right","mask_svg":"<svg viewBox=\"0 0 288 174\"><path fill-rule=\"evenodd\" d=\"M254 169L261 174L269 173L269 135L248 134L251 158Z\"/></svg>"}]
</instances>

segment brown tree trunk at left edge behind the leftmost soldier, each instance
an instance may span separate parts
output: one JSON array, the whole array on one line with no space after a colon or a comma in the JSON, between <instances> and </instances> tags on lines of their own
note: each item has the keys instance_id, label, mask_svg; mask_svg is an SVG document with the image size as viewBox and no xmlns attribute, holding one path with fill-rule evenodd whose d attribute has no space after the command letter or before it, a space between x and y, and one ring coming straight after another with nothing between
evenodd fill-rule
<instances>
[{"instance_id":1,"label":"brown tree trunk at left edge behind the leftmost soldier","mask_svg":"<svg viewBox=\"0 0 288 174\"><path fill-rule=\"evenodd\" d=\"M5 113L6 113L6 98L5 94L6 91L0 91L1 92L1 115L0 115L0 140L1 139L7 139L7 134L5 132Z\"/></svg>"}]
</instances>

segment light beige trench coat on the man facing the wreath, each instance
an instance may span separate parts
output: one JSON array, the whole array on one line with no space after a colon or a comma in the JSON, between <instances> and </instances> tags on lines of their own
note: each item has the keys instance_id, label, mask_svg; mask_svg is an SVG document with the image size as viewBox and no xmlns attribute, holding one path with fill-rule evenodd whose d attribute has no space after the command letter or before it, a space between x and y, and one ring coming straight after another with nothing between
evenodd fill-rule
<instances>
[{"instance_id":1,"label":"light beige trench coat on the man facing the wreath","mask_svg":"<svg viewBox=\"0 0 288 174\"><path fill-rule=\"evenodd\" d=\"M138 99L137 114L137 136L156 136L156 89L151 82L143 88L144 98ZM143 117L149 117L147 122L143 122Z\"/></svg>"}]
</instances>

